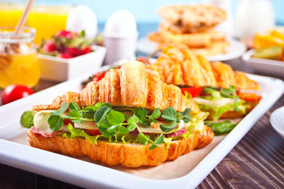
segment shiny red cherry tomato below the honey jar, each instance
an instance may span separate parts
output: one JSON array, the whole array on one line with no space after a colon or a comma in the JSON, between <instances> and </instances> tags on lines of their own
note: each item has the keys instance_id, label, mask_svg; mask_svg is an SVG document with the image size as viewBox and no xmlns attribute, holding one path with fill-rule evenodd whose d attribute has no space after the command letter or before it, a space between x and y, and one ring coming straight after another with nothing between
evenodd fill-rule
<instances>
[{"instance_id":1,"label":"shiny red cherry tomato below the honey jar","mask_svg":"<svg viewBox=\"0 0 284 189\"><path fill-rule=\"evenodd\" d=\"M11 103L20 98L33 94L33 90L28 86L23 85L11 85L7 86L2 93L2 103Z\"/></svg>"}]
</instances>

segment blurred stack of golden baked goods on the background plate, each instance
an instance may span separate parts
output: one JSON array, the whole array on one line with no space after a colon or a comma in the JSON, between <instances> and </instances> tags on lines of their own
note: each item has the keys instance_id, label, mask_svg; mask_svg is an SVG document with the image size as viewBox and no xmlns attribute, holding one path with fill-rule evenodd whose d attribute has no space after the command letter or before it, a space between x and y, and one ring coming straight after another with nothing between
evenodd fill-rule
<instances>
[{"instance_id":1,"label":"blurred stack of golden baked goods on the background plate","mask_svg":"<svg viewBox=\"0 0 284 189\"><path fill-rule=\"evenodd\" d=\"M158 49L168 45L187 45L200 55L218 55L229 43L225 36L214 30L214 26L226 20L226 11L216 6L180 5L163 6L158 10L164 19L159 31L148 35L158 42Z\"/></svg>"}]
</instances>

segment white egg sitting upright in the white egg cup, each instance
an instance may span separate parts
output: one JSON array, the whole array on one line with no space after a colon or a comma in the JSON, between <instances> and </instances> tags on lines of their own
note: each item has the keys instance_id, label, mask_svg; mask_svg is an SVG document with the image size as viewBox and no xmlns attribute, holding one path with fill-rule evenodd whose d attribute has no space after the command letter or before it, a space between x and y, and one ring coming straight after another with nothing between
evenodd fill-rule
<instances>
[{"instance_id":1,"label":"white egg sitting upright in the white egg cup","mask_svg":"<svg viewBox=\"0 0 284 189\"><path fill-rule=\"evenodd\" d=\"M105 37L136 37L137 35L136 20L127 10L112 13L104 26Z\"/></svg>"}]
</instances>

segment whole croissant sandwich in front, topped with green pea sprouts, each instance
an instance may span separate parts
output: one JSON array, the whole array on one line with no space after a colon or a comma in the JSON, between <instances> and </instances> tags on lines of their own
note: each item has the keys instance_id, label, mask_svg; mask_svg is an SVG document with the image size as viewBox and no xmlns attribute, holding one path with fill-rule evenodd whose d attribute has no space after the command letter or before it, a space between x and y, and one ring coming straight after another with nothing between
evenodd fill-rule
<instances>
[{"instance_id":1,"label":"whole croissant sandwich in front, topped with green pea sprouts","mask_svg":"<svg viewBox=\"0 0 284 189\"><path fill-rule=\"evenodd\" d=\"M67 92L21 117L32 147L113 166L158 166L209 144L208 113L141 62L110 69L81 93Z\"/></svg>"}]
</instances>

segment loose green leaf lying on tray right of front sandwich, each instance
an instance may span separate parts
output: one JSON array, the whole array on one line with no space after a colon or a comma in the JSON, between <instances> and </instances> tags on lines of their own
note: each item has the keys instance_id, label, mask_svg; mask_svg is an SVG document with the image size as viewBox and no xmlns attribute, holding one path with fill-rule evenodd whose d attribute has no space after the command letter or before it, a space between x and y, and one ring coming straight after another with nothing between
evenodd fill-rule
<instances>
[{"instance_id":1,"label":"loose green leaf lying on tray right of front sandwich","mask_svg":"<svg viewBox=\"0 0 284 189\"><path fill-rule=\"evenodd\" d=\"M223 122L205 121L204 124L208 125L216 135L228 133L237 125L237 123L232 123L229 120Z\"/></svg>"}]
</instances>

